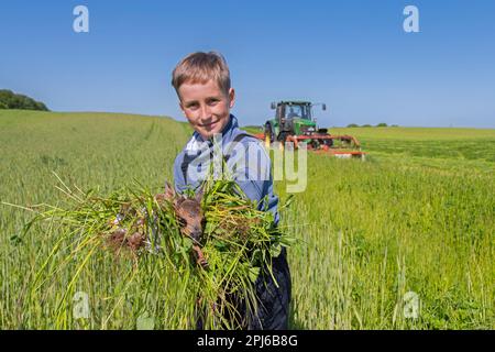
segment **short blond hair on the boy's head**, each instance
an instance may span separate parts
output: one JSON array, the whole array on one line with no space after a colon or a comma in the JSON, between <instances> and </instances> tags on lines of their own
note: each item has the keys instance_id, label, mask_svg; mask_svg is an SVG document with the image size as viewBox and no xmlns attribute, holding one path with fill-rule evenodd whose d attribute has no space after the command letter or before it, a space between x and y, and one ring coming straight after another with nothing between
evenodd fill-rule
<instances>
[{"instance_id":1,"label":"short blond hair on the boy's head","mask_svg":"<svg viewBox=\"0 0 495 352\"><path fill-rule=\"evenodd\" d=\"M227 62L217 52L196 52L184 57L172 73L172 86L178 95L179 87L185 82L206 84L213 79L226 94L230 90L230 72Z\"/></svg>"}]
</instances>

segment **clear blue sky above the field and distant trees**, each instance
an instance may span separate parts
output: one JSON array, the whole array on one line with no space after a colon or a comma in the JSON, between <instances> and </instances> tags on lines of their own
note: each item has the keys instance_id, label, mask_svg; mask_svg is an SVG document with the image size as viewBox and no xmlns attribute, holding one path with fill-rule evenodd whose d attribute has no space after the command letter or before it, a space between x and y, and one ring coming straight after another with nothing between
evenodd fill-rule
<instances>
[{"instance_id":1,"label":"clear blue sky above the field and distant trees","mask_svg":"<svg viewBox=\"0 0 495 352\"><path fill-rule=\"evenodd\" d=\"M89 33L73 9L89 9ZM405 6L420 33L405 33ZM221 52L242 124L270 102L327 102L323 127L495 128L495 1L0 2L0 88L57 111L183 119L169 80L195 51Z\"/></svg>"}]
</instances>

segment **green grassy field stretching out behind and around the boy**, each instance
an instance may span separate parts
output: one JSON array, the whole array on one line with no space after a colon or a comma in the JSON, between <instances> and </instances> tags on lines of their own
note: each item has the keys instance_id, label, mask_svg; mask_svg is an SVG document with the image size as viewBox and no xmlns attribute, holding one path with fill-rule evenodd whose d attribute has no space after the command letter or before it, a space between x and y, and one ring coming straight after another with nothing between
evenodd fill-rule
<instances>
[{"instance_id":1,"label":"green grassy field stretching out behind and around the boy","mask_svg":"<svg viewBox=\"0 0 495 352\"><path fill-rule=\"evenodd\" d=\"M331 132L355 135L369 155L363 163L311 154L308 188L283 213L301 240L289 251L292 328L494 329L495 130ZM135 179L158 190L189 134L168 118L0 110L0 201L59 202L53 172L82 189L106 193ZM283 200L285 186L276 184ZM57 293L26 297L56 241L43 227L21 235L31 217L0 205L0 329L56 327ZM119 284L112 267L95 271L98 280L81 277L78 289ZM148 305L156 328L180 328L180 311L168 309L180 300L173 289L162 305L134 292L116 311L92 297L101 311L64 328L134 329L141 310L132 304ZM419 298L417 318L407 314L408 293Z\"/></svg>"}]
</instances>

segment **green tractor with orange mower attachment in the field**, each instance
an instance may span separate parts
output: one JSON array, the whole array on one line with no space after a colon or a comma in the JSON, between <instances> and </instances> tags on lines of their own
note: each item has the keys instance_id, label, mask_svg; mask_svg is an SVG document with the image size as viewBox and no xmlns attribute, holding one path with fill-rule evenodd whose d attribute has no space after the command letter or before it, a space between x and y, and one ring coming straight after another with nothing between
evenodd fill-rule
<instances>
[{"instance_id":1,"label":"green tractor with orange mower attachment in the field","mask_svg":"<svg viewBox=\"0 0 495 352\"><path fill-rule=\"evenodd\" d=\"M312 108L321 106L327 110L326 103L312 103L309 101L279 101L272 102L272 109L276 110L275 118L266 121L262 138L268 143L292 142L294 147L305 143L308 150L330 152L338 157L364 158L360 142L351 135L332 135L328 129L317 127Z\"/></svg>"}]
</instances>

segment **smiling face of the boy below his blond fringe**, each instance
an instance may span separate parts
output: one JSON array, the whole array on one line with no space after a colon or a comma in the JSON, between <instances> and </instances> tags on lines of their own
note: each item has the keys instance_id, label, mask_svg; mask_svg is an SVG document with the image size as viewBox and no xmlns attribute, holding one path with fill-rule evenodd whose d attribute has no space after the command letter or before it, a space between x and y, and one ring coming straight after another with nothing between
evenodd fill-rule
<instances>
[{"instance_id":1,"label":"smiling face of the boy below his blond fringe","mask_svg":"<svg viewBox=\"0 0 495 352\"><path fill-rule=\"evenodd\" d=\"M208 140L220 133L229 122L234 105L234 90L224 94L212 79L206 84L184 82L179 89L180 109L191 127Z\"/></svg>"}]
</instances>

